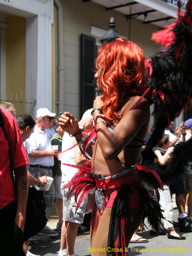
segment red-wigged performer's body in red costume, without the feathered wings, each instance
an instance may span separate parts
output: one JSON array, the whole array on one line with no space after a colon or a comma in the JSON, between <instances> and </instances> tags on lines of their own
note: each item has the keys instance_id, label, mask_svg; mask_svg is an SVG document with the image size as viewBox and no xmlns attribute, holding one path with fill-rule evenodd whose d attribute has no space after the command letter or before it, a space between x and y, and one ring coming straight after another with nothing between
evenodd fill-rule
<instances>
[{"instance_id":1,"label":"red-wigged performer's body in red costume, without the feathered wings","mask_svg":"<svg viewBox=\"0 0 192 256\"><path fill-rule=\"evenodd\" d=\"M77 145L84 150L96 135L88 175L92 186L96 183L96 206L91 222L92 255L107 252L124 255L143 219L143 195L135 164L142 162L150 109L145 98L134 110L130 109L146 90L145 56L133 42L115 38L99 48L96 67L97 87L103 94L96 97L93 104L96 134L90 131L88 136L89 131L82 132L77 120L68 112L61 115L60 120L62 128L75 136ZM76 185L78 178L76 176ZM86 188L87 183L81 186L81 192ZM77 186L75 189L78 190ZM94 252L97 248L105 248L105 251Z\"/></svg>"}]
</instances>

